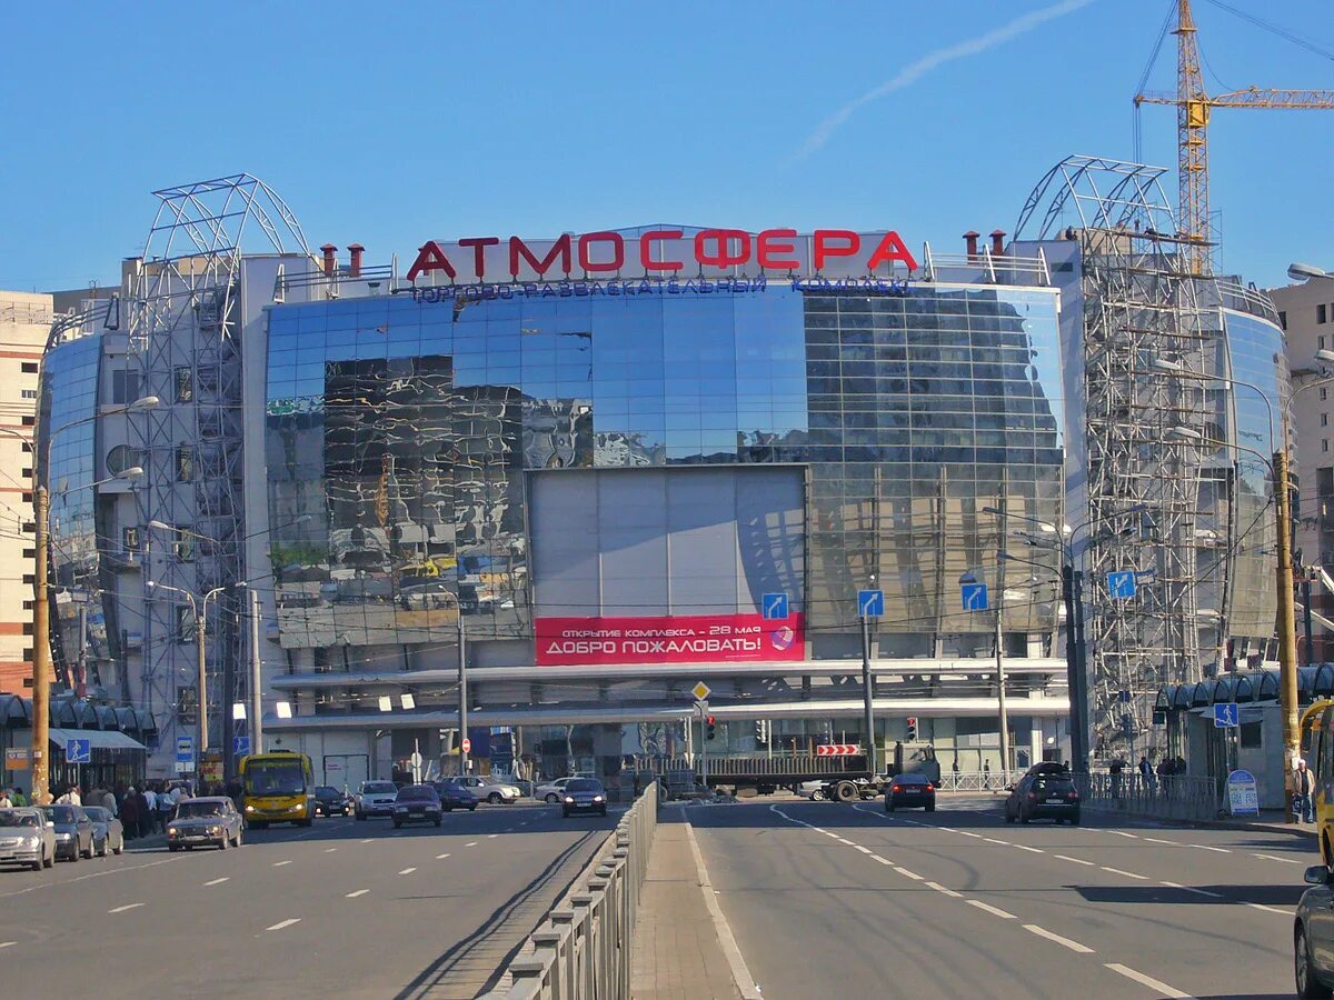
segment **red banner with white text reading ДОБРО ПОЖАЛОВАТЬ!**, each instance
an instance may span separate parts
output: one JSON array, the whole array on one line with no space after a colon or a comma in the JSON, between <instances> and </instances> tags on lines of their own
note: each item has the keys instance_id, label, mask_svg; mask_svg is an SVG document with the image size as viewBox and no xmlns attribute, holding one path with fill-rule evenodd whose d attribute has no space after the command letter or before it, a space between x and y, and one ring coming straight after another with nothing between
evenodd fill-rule
<instances>
[{"instance_id":1,"label":"red banner with white text reading \u0414\u041e\u0411\u0420\u041e \u041f\u041e\u0416\u0410\u041b\u041e\u0412\u0410\u0422\u042c!","mask_svg":"<svg viewBox=\"0 0 1334 1000\"><path fill-rule=\"evenodd\" d=\"M806 659L803 616L536 619L539 667Z\"/></svg>"}]
</instances>

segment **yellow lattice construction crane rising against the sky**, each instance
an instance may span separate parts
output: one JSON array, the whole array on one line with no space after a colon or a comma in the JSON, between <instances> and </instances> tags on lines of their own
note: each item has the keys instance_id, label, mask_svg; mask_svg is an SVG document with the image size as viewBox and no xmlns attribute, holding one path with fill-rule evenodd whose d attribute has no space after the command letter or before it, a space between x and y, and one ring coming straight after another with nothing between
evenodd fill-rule
<instances>
[{"instance_id":1,"label":"yellow lattice construction crane rising against the sky","mask_svg":"<svg viewBox=\"0 0 1334 1000\"><path fill-rule=\"evenodd\" d=\"M1199 65L1199 43L1190 0L1177 0L1177 93L1135 95L1135 109L1143 104L1171 104L1177 108L1177 169L1181 223L1178 239L1190 273L1210 273L1209 233L1209 116L1214 108L1323 108L1334 109L1334 91L1277 91L1251 87L1245 91L1205 92Z\"/></svg>"}]
</instances>

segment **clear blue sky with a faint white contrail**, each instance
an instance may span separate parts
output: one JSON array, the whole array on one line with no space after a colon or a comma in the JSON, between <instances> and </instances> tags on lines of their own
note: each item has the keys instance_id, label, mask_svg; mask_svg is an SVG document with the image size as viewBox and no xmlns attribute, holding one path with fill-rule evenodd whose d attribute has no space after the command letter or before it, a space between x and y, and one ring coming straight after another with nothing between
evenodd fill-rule
<instances>
[{"instance_id":1,"label":"clear blue sky with a faint white contrail","mask_svg":"<svg viewBox=\"0 0 1334 1000\"><path fill-rule=\"evenodd\" d=\"M1334 48L1327 0L1231 4ZM359 241L370 263L652 221L895 228L955 252L966 229L1013 229L1062 156L1131 159L1167 5L15 5L0 287L113 281L153 188L240 171L311 245ZM1195 8L1211 91L1334 87L1334 61ZM1173 41L1150 88L1175 85ZM1225 269L1267 285L1294 259L1334 267L1334 111L1218 111L1210 136ZM1143 159L1175 164L1171 108L1143 112Z\"/></svg>"}]
</instances>

